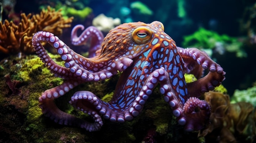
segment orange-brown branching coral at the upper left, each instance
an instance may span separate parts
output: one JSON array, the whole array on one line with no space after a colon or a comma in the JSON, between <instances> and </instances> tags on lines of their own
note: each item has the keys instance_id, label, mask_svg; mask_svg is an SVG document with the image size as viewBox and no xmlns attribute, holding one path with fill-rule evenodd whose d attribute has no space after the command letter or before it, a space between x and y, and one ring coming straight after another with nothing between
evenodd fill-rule
<instances>
[{"instance_id":1,"label":"orange-brown branching coral at the upper left","mask_svg":"<svg viewBox=\"0 0 256 143\"><path fill-rule=\"evenodd\" d=\"M50 7L36 15L21 13L21 22L18 25L4 20L4 23L0 22L0 53L34 53L31 44L34 33L43 30L61 35L62 29L70 27L72 20L72 17L64 20L60 10L51 10Z\"/></svg>"}]
</instances>

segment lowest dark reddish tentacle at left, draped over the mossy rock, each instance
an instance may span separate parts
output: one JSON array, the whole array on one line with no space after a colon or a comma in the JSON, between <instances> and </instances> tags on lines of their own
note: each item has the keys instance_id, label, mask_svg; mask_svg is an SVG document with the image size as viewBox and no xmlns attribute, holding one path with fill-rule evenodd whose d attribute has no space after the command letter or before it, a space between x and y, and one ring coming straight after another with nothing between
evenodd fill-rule
<instances>
[{"instance_id":1,"label":"lowest dark reddish tentacle at left, draped over the mossy rock","mask_svg":"<svg viewBox=\"0 0 256 143\"><path fill-rule=\"evenodd\" d=\"M79 84L81 84L80 81L65 81L60 86L45 90L42 96L39 97L39 107L42 109L43 114L52 119L55 123L73 125L85 128L88 131L99 130L102 125L102 120L99 116L91 114L95 123L90 123L61 111L54 103L54 99L64 95Z\"/></svg>"}]
</instances>

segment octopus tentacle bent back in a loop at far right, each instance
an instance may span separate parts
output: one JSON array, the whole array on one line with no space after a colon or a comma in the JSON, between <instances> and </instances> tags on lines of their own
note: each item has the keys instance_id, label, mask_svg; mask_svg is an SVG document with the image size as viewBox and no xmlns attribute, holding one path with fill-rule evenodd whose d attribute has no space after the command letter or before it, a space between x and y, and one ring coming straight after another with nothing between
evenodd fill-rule
<instances>
[{"instance_id":1,"label":"octopus tentacle bent back in a loop at far right","mask_svg":"<svg viewBox=\"0 0 256 143\"><path fill-rule=\"evenodd\" d=\"M187 83L187 88L190 96L199 97L202 93L208 92L209 90L213 90L215 87L219 86L223 80L225 80L224 75L226 72L223 71L223 68L214 62L210 57L204 53L203 51L198 50L197 48L177 48L179 53L182 56L182 59L185 62L185 70L186 73L192 73L193 68L200 71L200 69L209 69L209 73L194 81L192 83ZM195 65L201 65L200 68ZM193 74L193 73L192 73Z\"/></svg>"}]
</instances>

